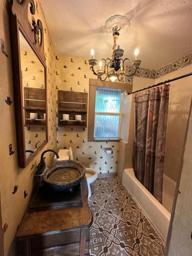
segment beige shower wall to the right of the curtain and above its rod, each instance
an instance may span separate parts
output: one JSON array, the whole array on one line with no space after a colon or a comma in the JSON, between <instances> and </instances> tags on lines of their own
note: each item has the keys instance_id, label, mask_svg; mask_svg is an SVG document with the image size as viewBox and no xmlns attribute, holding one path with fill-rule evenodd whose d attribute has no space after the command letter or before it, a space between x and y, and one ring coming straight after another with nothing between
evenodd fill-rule
<instances>
[{"instance_id":1,"label":"beige shower wall to the right of the curtain and above its rod","mask_svg":"<svg viewBox=\"0 0 192 256\"><path fill-rule=\"evenodd\" d=\"M155 83L191 72L191 65L155 80ZM164 174L177 181L186 123L192 98L192 77L170 83Z\"/></svg>"}]
</instances>

